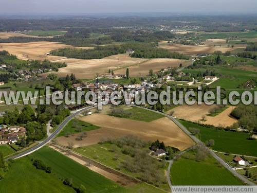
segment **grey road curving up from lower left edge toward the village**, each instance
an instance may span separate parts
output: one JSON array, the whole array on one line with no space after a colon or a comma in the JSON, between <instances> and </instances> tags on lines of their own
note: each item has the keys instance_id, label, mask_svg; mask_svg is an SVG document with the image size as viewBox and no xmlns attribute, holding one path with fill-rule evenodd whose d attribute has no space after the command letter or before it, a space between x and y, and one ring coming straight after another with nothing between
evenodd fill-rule
<instances>
[{"instance_id":1,"label":"grey road curving up from lower left edge toward the village","mask_svg":"<svg viewBox=\"0 0 257 193\"><path fill-rule=\"evenodd\" d=\"M65 125L72 119L74 118L75 116L79 115L80 113L82 113L83 111L86 111L86 110L90 110L90 109L94 109L96 106L90 106L90 107L86 107L86 108L83 108L83 109L80 109L76 112L74 112L73 114L71 114L70 116L68 116L67 118L64 119L64 121L58 126L58 128L52 132L52 134L50 136L48 136L43 142L41 142L40 144L20 153L20 154L17 154L17 155L14 155L12 157L9 157L7 160L9 159L17 159L17 158L20 158L20 157L23 157L25 155L28 155L30 153L33 153L34 151L36 150L39 150L40 148L44 147L47 143L49 143L55 136L57 136L57 134L65 127Z\"/></svg>"}]
</instances>

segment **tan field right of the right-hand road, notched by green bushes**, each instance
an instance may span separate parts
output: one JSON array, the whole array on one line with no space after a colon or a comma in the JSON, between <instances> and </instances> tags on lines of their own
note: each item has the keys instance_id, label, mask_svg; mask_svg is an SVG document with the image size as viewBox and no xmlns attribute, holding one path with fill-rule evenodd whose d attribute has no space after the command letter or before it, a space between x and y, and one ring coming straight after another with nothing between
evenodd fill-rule
<instances>
[{"instance_id":1,"label":"tan field right of the right-hand road, notched by green bushes","mask_svg":"<svg viewBox=\"0 0 257 193\"><path fill-rule=\"evenodd\" d=\"M168 111L167 113L169 114L171 111L174 111L173 116L175 116L176 118L182 118L193 122L200 122L208 125L213 125L215 127L227 127L237 122L236 119L230 117L230 113L234 109L234 107L229 107L228 109L214 117L208 116L209 111L215 108L215 106L215 104L209 106L204 103L201 105L194 104L193 106L188 106L187 104L184 104ZM204 122L201 121L203 116L205 116L206 119L206 121Z\"/></svg>"}]
</instances>

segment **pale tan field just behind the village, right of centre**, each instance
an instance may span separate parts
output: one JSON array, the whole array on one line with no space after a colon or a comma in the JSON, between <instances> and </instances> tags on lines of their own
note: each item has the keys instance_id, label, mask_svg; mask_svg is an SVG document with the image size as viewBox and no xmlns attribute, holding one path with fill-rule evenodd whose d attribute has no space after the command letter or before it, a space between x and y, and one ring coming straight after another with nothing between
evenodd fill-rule
<instances>
[{"instance_id":1,"label":"pale tan field just behind the village, right of centre","mask_svg":"<svg viewBox=\"0 0 257 193\"><path fill-rule=\"evenodd\" d=\"M149 74L149 70L153 69L156 73L160 71L162 68L167 67L178 67L181 63L182 66L186 66L190 64L189 60L178 60L178 59L168 59L168 58L160 58L160 59L151 59L146 62L140 63L138 65L133 65L128 67L130 69L130 76L132 77L141 77ZM115 71L116 74L125 74L126 68L119 69Z\"/></svg>"}]
</instances>

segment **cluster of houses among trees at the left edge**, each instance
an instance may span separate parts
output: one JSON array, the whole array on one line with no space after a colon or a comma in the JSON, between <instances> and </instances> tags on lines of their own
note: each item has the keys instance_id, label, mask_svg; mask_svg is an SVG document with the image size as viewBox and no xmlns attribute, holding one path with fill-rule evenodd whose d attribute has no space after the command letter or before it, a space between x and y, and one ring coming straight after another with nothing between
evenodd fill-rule
<instances>
[{"instance_id":1,"label":"cluster of houses among trees at the left edge","mask_svg":"<svg viewBox=\"0 0 257 193\"><path fill-rule=\"evenodd\" d=\"M26 136L26 129L20 126L0 126L0 145L14 144Z\"/></svg>"}]
</instances>

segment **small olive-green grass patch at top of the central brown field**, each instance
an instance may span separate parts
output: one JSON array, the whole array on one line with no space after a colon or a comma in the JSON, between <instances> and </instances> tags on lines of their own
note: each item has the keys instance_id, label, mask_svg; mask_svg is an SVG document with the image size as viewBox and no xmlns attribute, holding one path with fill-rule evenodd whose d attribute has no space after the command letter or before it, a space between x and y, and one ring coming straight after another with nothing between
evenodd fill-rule
<instances>
[{"instance_id":1,"label":"small olive-green grass patch at top of the central brown field","mask_svg":"<svg viewBox=\"0 0 257 193\"><path fill-rule=\"evenodd\" d=\"M145 121L145 122L151 122L153 120L157 120L157 119L163 117L163 115L161 115L161 114L158 114L158 113L155 113L152 111L148 111L148 110L144 110L144 109L139 109L139 108L127 109L127 110L124 110L124 112L131 113L131 116L128 117L129 119L140 120L140 121Z\"/></svg>"}]
</instances>

